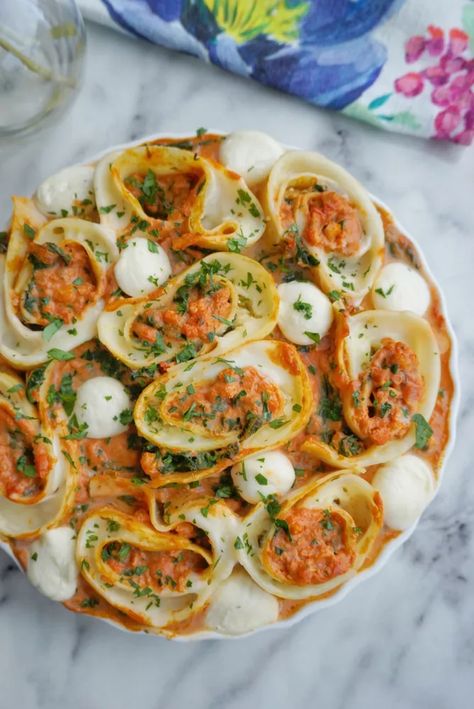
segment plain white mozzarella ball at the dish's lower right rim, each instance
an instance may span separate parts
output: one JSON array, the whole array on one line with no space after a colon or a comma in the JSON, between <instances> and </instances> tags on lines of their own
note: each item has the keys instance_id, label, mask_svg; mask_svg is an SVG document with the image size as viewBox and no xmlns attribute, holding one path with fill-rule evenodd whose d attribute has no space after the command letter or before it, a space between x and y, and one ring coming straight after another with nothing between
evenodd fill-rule
<instances>
[{"instance_id":1,"label":"plain white mozzarella ball at the dish's lower right rim","mask_svg":"<svg viewBox=\"0 0 474 709\"><path fill-rule=\"evenodd\" d=\"M372 484L382 495L385 524L392 529L411 527L434 491L430 466L411 454L382 465Z\"/></svg>"}]
</instances>

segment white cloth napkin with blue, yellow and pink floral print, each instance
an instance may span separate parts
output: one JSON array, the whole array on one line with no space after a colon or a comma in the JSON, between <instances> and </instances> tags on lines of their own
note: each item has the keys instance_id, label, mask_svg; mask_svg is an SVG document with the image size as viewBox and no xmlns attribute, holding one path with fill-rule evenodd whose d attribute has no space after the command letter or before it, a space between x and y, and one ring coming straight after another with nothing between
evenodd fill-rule
<instances>
[{"instance_id":1,"label":"white cloth napkin with blue, yellow and pink floral print","mask_svg":"<svg viewBox=\"0 0 474 709\"><path fill-rule=\"evenodd\" d=\"M474 0L79 0L85 17L388 130L474 140Z\"/></svg>"}]
</instances>

